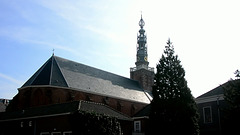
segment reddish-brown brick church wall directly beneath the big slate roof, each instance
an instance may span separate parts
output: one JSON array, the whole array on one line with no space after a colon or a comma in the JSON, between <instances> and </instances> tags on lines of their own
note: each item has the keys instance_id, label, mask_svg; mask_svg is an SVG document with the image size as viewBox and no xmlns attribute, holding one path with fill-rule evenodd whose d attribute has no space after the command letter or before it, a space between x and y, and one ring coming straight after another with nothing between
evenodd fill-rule
<instances>
[{"instance_id":1,"label":"reddish-brown brick church wall directly beneath the big slate roof","mask_svg":"<svg viewBox=\"0 0 240 135\"><path fill-rule=\"evenodd\" d=\"M29 107L64 103L70 101L85 100L103 103L128 116L144 108L147 104L125 99L108 97L77 91L70 88L54 86L35 86L19 89L19 93L13 98L10 110L25 109Z\"/></svg>"}]
</instances>

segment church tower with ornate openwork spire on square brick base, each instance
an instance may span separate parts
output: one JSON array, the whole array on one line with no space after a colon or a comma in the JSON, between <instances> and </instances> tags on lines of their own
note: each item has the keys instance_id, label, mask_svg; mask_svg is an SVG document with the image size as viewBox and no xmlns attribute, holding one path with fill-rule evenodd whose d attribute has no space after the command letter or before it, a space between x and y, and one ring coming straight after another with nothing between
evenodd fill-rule
<instances>
[{"instance_id":1,"label":"church tower with ornate openwork spire on square brick base","mask_svg":"<svg viewBox=\"0 0 240 135\"><path fill-rule=\"evenodd\" d=\"M145 22L142 19L139 21L139 34L137 36L137 59L136 67L130 68L130 78L139 81L144 90L152 91L154 81L154 68L148 67L148 53L147 53L147 36L143 26Z\"/></svg>"}]
</instances>

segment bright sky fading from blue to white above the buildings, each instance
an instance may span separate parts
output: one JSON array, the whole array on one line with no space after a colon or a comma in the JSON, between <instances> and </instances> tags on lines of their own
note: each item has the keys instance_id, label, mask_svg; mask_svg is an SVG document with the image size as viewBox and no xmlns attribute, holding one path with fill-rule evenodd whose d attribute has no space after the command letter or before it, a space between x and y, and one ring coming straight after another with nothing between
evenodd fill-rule
<instances>
[{"instance_id":1,"label":"bright sky fading from blue to white above the buildings","mask_svg":"<svg viewBox=\"0 0 240 135\"><path fill-rule=\"evenodd\" d=\"M0 1L0 98L12 98L54 53L129 77L138 21L145 21L151 67L168 38L197 97L234 78L240 20L234 0Z\"/></svg>"}]
</instances>

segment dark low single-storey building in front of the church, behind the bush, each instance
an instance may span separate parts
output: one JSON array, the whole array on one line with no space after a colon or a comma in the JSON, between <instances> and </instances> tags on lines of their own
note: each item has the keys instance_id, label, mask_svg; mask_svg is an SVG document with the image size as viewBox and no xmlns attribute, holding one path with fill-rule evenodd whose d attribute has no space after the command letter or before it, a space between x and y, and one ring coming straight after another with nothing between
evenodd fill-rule
<instances>
[{"instance_id":1,"label":"dark low single-storey building in front of the church, behind the bush","mask_svg":"<svg viewBox=\"0 0 240 135\"><path fill-rule=\"evenodd\" d=\"M75 120L81 113L94 113L117 118L122 133L131 134L131 117L104 104L88 101L73 101L2 113L0 131L3 135L70 135L73 134L73 131L86 131L86 127L80 126L84 120Z\"/></svg>"}]
</instances>

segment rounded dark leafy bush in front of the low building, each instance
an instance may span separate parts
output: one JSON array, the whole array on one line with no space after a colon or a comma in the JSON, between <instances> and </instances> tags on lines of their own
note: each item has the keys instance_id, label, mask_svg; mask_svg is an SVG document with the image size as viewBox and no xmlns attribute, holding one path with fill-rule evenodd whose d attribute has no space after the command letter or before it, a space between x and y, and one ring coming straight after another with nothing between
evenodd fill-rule
<instances>
[{"instance_id":1,"label":"rounded dark leafy bush in front of the low building","mask_svg":"<svg viewBox=\"0 0 240 135\"><path fill-rule=\"evenodd\" d=\"M72 116L75 135L121 135L121 126L114 117L90 112L76 112Z\"/></svg>"}]
</instances>

